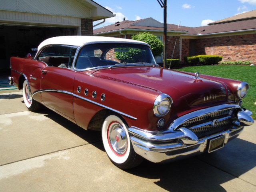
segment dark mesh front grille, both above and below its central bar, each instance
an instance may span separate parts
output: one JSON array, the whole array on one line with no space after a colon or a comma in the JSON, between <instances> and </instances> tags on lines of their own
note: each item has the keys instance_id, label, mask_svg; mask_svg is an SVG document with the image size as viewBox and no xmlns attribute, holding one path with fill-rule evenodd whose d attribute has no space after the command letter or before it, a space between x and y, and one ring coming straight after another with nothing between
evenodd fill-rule
<instances>
[{"instance_id":1,"label":"dark mesh front grille, both above and below its central bar","mask_svg":"<svg viewBox=\"0 0 256 192\"><path fill-rule=\"evenodd\" d=\"M203 136L214 134L216 132L220 132L222 130L227 129L228 125L231 125L231 118L219 121L218 125L215 127L212 126L211 124L201 126L198 128L191 128L192 126L199 125L214 119L219 119L226 116L232 116L232 114L234 114L234 109L220 110L220 111L208 113L208 114L190 119L188 121L185 121L184 123L181 124L181 126L192 130L196 134L196 136L198 136L198 138L202 138Z\"/></svg>"}]
</instances>

